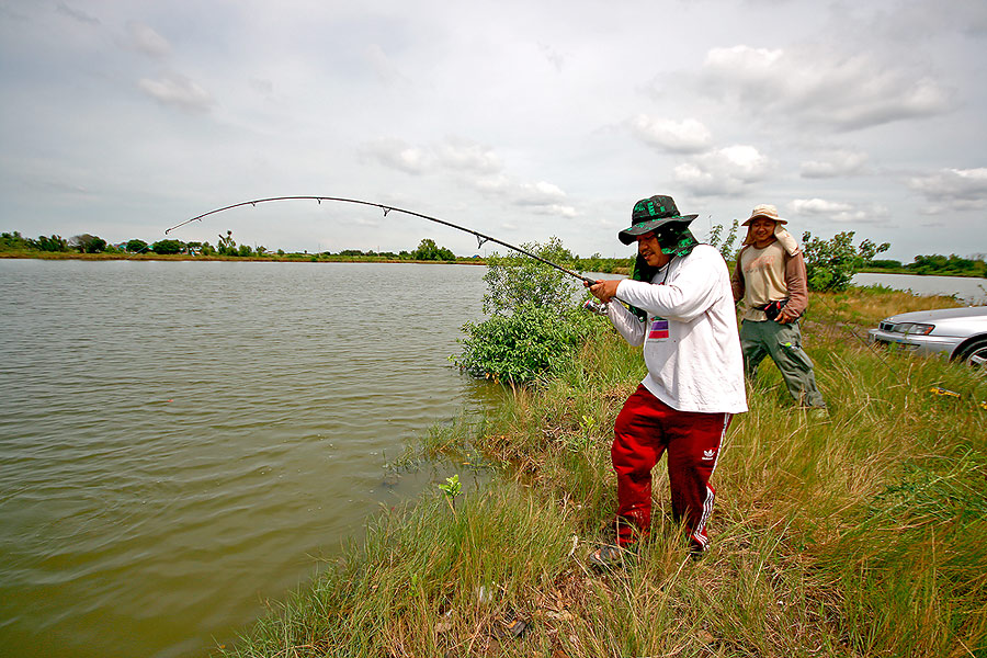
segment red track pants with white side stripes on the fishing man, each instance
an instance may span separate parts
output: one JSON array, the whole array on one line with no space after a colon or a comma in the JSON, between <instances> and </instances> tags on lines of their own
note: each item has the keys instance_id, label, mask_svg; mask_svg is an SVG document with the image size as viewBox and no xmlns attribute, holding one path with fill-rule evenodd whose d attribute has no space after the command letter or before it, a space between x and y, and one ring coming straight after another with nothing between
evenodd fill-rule
<instances>
[{"instance_id":1,"label":"red track pants with white side stripes on the fishing man","mask_svg":"<svg viewBox=\"0 0 987 658\"><path fill-rule=\"evenodd\" d=\"M651 468L668 452L672 518L685 520L693 547L705 549L715 490L710 478L730 424L729 413L677 411L640 385L624 402L610 455L617 476L617 543L632 544L651 525Z\"/></svg>"}]
</instances>

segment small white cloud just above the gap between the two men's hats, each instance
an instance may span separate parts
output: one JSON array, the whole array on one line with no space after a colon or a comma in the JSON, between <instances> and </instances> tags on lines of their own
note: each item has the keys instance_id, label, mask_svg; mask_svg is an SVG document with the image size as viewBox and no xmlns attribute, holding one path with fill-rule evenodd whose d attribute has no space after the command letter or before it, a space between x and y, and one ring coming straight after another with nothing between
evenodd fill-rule
<instances>
[{"instance_id":1,"label":"small white cloud just above the gap between the two men's hats","mask_svg":"<svg viewBox=\"0 0 987 658\"><path fill-rule=\"evenodd\" d=\"M750 183L763 180L771 162L757 148L728 146L692 158L673 171L677 183L699 196L735 194Z\"/></svg>"}]
</instances>

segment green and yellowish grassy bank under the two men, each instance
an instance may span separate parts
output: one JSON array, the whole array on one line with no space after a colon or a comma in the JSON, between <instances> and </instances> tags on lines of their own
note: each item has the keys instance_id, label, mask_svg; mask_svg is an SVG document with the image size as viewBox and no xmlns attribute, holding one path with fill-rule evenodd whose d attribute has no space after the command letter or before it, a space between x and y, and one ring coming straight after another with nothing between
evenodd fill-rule
<instances>
[{"instance_id":1,"label":"green and yellowish grassy bank under the two men","mask_svg":"<svg viewBox=\"0 0 987 658\"><path fill-rule=\"evenodd\" d=\"M225 655L985 656L987 379L862 344L892 311L944 305L814 296L829 422L792 410L765 364L714 477L707 555L688 558L659 465L651 540L609 574L585 557L608 538L611 431L644 371L601 324L558 379L423 439L481 452L492 481L374 519Z\"/></svg>"}]
</instances>

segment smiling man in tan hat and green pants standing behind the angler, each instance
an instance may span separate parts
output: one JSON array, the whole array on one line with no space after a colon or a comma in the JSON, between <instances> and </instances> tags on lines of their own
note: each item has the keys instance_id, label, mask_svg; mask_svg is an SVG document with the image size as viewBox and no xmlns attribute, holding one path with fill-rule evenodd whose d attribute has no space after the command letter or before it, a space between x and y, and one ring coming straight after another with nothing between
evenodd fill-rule
<instances>
[{"instance_id":1,"label":"smiling man in tan hat and green pants standing behind the angler","mask_svg":"<svg viewBox=\"0 0 987 658\"><path fill-rule=\"evenodd\" d=\"M785 224L770 204L757 206L742 224L748 227L747 237L737 256L731 284L734 299L744 300L744 372L753 378L758 365L770 355L795 402L814 415L827 416L798 329L798 318L808 306L805 259Z\"/></svg>"}]
</instances>

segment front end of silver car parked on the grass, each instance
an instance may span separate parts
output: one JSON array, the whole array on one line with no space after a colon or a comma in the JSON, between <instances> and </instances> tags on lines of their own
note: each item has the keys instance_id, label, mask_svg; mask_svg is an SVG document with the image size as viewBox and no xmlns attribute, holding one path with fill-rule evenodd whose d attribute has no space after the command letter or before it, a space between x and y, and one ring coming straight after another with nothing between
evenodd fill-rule
<instances>
[{"instance_id":1,"label":"front end of silver car parked on the grass","mask_svg":"<svg viewBox=\"0 0 987 658\"><path fill-rule=\"evenodd\" d=\"M920 354L946 354L983 368L987 363L987 306L903 313L881 320L867 341Z\"/></svg>"}]
</instances>

